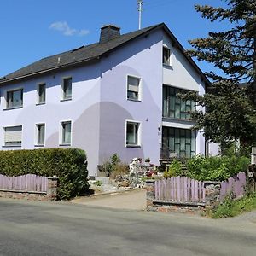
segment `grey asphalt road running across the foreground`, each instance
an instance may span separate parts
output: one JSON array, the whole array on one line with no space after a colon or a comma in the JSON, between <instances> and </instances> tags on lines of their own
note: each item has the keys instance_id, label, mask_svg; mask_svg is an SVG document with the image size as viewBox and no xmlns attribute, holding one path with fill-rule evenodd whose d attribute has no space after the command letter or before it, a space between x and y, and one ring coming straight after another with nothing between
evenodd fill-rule
<instances>
[{"instance_id":1,"label":"grey asphalt road running across the foreground","mask_svg":"<svg viewBox=\"0 0 256 256\"><path fill-rule=\"evenodd\" d=\"M256 224L0 198L0 255L255 255Z\"/></svg>"}]
</instances>

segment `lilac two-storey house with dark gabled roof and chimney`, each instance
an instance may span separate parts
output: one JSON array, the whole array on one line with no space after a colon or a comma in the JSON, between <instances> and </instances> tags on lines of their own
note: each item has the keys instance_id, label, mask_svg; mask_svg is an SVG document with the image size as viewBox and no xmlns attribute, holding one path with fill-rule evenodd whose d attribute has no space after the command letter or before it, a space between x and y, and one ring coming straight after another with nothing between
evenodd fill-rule
<instances>
[{"instance_id":1,"label":"lilac two-storey house with dark gabled roof and chimney","mask_svg":"<svg viewBox=\"0 0 256 256\"><path fill-rule=\"evenodd\" d=\"M208 80L165 24L49 56L0 79L2 149L83 148L90 176L117 153L159 164L170 152L205 154L206 143L176 94ZM209 147L209 154L214 153ZM162 155L161 155L162 154Z\"/></svg>"}]
</instances>

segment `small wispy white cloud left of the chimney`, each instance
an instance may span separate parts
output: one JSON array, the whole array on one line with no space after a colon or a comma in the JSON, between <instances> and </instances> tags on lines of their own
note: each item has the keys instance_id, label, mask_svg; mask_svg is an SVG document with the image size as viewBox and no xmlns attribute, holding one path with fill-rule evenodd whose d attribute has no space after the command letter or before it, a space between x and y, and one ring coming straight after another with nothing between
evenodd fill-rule
<instances>
[{"instance_id":1,"label":"small wispy white cloud left of the chimney","mask_svg":"<svg viewBox=\"0 0 256 256\"><path fill-rule=\"evenodd\" d=\"M85 36L89 33L86 29L75 29L67 24L67 21L56 21L49 26L49 29L59 31L64 36Z\"/></svg>"}]
</instances>

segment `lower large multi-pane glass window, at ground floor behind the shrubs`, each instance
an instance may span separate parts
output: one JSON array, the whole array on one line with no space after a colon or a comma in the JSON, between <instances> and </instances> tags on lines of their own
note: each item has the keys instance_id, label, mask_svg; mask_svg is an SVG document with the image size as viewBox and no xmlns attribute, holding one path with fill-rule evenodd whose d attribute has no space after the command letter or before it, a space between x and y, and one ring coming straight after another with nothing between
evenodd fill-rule
<instances>
[{"instance_id":1,"label":"lower large multi-pane glass window, at ground floor behind the shrubs","mask_svg":"<svg viewBox=\"0 0 256 256\"><path fill-rule=\"evenodd\" d=\"M195 131L163 127L162 154L169 157L170 153L177 153L178 157L190 158L195 155Z\"/></svg>"}]
</instances>

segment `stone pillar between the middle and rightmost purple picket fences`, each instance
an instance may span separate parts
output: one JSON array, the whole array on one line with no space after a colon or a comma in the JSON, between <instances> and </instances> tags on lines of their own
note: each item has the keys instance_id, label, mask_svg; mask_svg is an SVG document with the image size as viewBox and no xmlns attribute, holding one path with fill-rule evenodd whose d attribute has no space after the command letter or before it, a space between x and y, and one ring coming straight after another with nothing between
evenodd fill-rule
<instances>
[{"instance_id":1,"label":"stone pillar between the middle and rightmost purple picket fences","mask_svg":"<svg viewBox=\"0 0 256 256\"><path fill-rule=\"evenodd\" d=\"M205 181L206 207L215 207L220 201L220 182Z\"/></svg>"}]
</instances>

